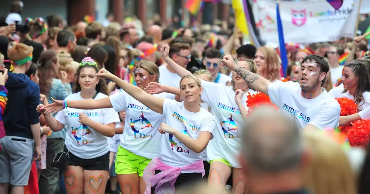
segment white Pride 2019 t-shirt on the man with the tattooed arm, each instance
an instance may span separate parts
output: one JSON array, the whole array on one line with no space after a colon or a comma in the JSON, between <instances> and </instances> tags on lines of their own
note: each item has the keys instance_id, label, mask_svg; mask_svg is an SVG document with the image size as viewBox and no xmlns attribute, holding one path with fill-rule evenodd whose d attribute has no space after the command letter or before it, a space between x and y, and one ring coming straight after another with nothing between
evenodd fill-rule
<instances>
[{"instance_id":1,"label":"white Pride 2019 t-shirt on the man with the tattooed arm","mask_svg":"<svg viewBox=\"0 0 370 194\"><path fill-rule=\"evenodd\" d=\"M338 126L339 103L324 88L322 93L313 99L303 98L301 91L298 82L271 83L268 86L271 102L279 107L280 112L291 115L302 129L307 124L321 130Z\"/></svg>"}]
</instances>

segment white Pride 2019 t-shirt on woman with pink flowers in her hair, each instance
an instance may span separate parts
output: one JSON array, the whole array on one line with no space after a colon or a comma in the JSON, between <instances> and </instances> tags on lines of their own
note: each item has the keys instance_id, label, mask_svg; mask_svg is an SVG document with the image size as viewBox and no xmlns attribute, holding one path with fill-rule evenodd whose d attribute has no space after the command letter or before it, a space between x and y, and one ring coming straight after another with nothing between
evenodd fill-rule
<instances>
[{"instance_id":1,"label":"white Pride 2019 t-shirt on woman with pink flowers in her hair","mask_svg":"<svg viewBox=\"0 0 370 194\"><path fill-rule=\"evenodd\" d=\"M95 99L98 100L105 97L107 95L98 93ZM65 100L80 101L84 99L81 97L81 92L77 92L67 96ZM103 125L115 123L120 120L118 113L113 108L82 110L68 107L63 109L57 113L55 119L68 127L65 133L65 147L73 155L82 159L97 158L109 152L107 137L101 135L90 126L78 122L79 113L84 113L91 120Z\"/></svg>"}]
</instances>

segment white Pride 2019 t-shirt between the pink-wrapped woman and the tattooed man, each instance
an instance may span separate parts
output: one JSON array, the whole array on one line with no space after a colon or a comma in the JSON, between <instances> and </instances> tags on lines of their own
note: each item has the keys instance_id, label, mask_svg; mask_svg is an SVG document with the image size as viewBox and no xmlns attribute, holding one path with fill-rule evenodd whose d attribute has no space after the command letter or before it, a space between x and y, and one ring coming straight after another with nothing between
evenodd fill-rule
<instances>
[{"instance_id":1,"label":"white Pride 2019 t-shirt between the pink-wrapped woman and the tattooed man","mask_svg":"<svg viewBox=\"0 0 370 194\"><path fill-rule=\"evenodd\" d=\"M211 113L217 120L215 138L207 146L208 161L215 159L227 160L232 167L241 168L237 156L240 146L240 129L243 126L243 117L235 102L235 91L231 86L216 84L202 80L203 93L201 99L211 106ZM257 93L252 89L250 94ZM247 93L248 94L248 93ZM247 95L242 98L246 105Z\"/></svg>"}]
</instances>

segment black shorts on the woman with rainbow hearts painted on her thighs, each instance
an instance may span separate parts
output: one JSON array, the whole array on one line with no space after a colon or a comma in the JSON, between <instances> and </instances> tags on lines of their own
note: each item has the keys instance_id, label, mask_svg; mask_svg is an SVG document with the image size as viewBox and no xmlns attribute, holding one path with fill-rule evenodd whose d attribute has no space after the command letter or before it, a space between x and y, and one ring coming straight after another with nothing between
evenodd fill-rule
<instances>
[{"instance_id":1,"label":"black shorts on the woman with rainbow hearts painted on her thighs","mask_svg":"<svg viewBox=\"0 0 370 194\"><path fill-rule=\"evenodd\" d=\"M67 152L66 147L64 147L64 150ZM109 152L92 159L82 159L73 155L71 152L69 155L68 166L80 166L84 170L109 170Z\"/></svg>"}]
</instances>

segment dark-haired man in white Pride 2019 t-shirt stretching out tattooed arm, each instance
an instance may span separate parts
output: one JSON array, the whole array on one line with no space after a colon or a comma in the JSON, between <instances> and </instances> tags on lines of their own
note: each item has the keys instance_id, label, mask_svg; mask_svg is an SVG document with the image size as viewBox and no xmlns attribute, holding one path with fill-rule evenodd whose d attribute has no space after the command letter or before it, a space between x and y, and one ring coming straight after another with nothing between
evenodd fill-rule
<instances>
[{"instance_id":1,"label":"dark-haired man in white Pride 2019 t-shirt stretching out tattooed arm","mask_svg":"<svg viewBox=\"0 0 370 194\"><path fill-rule=\"evenodd\" d=\"M338 126L339 103L322 88L329 71L329 64L323 57L308 55L300 66L299 82L280 83L272 83L240 67L230 55L221 61L256 91L268 95L280 112L291 115L301 128L323 130Z\"/></svg>"}]
</instances>

